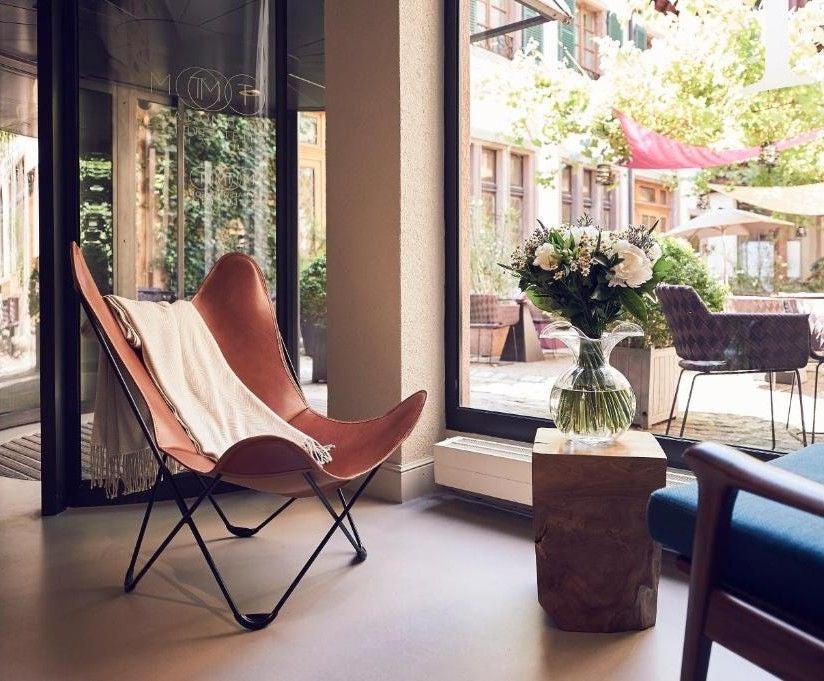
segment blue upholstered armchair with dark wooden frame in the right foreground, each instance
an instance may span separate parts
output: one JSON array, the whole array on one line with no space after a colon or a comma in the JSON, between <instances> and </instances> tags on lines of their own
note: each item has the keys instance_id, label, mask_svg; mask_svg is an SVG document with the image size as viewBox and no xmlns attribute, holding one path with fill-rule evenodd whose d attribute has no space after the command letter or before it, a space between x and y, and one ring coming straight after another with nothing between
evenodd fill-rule
<instances>
[{"instance_id":1,"label":"blue upholstered armchair with dark wooden frame in the right foreground","mask_svg":"<svg viewBox=\"0 0 824 681\"><path fill-rule=\"evenodd\" d=\"M702 443L697 484L650 498L653 538L690 574L682 681L713 642L785 679L824 678L824 445L763 463Z\"/></svg>"}]
</instances>

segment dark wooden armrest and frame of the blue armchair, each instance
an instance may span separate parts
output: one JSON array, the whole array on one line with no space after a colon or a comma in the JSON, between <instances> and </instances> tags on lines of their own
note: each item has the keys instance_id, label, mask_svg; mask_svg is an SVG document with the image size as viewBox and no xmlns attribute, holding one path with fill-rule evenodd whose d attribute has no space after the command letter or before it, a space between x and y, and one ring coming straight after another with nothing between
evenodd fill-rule
<instances>
[{"instance_id":1,"label":"dark wooden armrest and frame of the blue armchair","mask_svg":"<svg viewBox=\"0 0 824 681\"><path fill-rule=\"evenodd\" d=\"M813 635L723 580L735 498L749 492L824 517L824 485L768 466L730 447L705 442L684 459L698 478L698 515L689 572L690 593L682 681L707 677L713 642L784 679L817 681L824 670L824 632Z\"/></svg>"}]
</instances>

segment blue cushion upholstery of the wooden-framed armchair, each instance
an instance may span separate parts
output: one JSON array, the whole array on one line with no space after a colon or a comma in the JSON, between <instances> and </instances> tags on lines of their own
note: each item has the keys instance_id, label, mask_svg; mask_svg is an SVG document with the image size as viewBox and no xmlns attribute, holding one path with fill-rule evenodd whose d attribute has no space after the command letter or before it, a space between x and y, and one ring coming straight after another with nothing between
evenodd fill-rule
<instances>
[{"instance_id":1,"label":"blue cushion upholstery of the wooden-framed armchair","mask_svg":"<svg viewBox=\"0 0 824 681\"><path fill-rule=\"evenodd\" d=\"M824 445L769 465L824 483ZM697 505L697 484L655 492L647 510L653 538L691 557ZM724 581L805 629L824 630L824 518L739 492Z\"/></svg>"}]
</instances>

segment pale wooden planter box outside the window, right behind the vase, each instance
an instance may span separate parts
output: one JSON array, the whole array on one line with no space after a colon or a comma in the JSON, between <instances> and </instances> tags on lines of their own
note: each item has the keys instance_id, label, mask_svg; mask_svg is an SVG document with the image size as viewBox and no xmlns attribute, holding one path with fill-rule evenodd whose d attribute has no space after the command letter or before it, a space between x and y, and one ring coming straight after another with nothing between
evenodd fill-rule
<instances>
[{"instance_id":1,"label":"pale wooden planter box outside the window, right behind the vase","mask_svg":"<svg viewBox=\"0 0 824 681\"><path fill-rule=\"evenodd\" d=\"M633 424L649 428L666 421L680 372L675 348L619 345L612 351L610 364L627 377L635 391L638 402Z\"/></svg>"}]
</instances>

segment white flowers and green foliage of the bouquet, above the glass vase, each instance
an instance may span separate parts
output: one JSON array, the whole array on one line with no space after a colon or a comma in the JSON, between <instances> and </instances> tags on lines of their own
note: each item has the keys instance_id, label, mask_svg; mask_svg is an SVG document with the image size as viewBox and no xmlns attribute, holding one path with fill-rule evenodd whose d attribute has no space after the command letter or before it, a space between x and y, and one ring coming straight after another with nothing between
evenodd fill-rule
<instances>
[{"instance_id":1,"label":"white flowers and green foliage of the bouquet, above the glass vase","mask_svg":"<svg viewBox=\"0 0 824 681\"><path fill-rule=\"evenodd\" d=\"M539 221L503 267L539 309L600 338L627 314L647 319L652 293L669 268L654 229L607 231L588 216L559 227Z\"/></svg>"}]
</instances>

